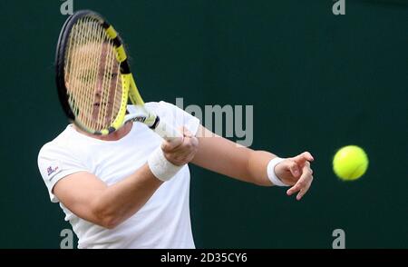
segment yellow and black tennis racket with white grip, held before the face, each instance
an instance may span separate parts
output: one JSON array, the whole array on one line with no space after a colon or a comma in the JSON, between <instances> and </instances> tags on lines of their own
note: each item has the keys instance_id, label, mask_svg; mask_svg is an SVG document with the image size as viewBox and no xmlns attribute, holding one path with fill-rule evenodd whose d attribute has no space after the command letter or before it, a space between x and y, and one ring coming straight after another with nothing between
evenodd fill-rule
<instances>
[{"instance_id":1,"label":"yellow and black tennis racket with white grip, held before the face","mask_svg":"<svg viewBox=\"0 0 408 267\"><path fill-rule=\"evenodd\" d=\"M101 15L81 10L68 17L58 39L55 69L63 111L83 131L107 135L133 121L166 140L181 136L144 106L121 37ZM127 114L129 99L136 113Z\"/></svg>"}]
</instances>

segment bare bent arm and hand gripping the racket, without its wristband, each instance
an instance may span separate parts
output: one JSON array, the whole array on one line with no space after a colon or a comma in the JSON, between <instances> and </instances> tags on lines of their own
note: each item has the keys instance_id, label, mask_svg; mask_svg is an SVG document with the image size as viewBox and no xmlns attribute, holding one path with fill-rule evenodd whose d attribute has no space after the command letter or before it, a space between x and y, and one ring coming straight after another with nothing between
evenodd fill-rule
<instances>
[{"instance_id":1,"label":"bare bent arm and hand gripping the racket, without its wristband","mask_svg":"<svg viewBox=\"0 0 408 267\"><path fill-rule=\"evenodd\" d=\"M180 166L189 163L198 149L197 138L191 134L164 144L166 158ZM92 173L69 174L53 185L53 194L78 217L112 229L137 213L161 183L145 163L121 182L110 186Z\"/></svg>"}]
</instances>

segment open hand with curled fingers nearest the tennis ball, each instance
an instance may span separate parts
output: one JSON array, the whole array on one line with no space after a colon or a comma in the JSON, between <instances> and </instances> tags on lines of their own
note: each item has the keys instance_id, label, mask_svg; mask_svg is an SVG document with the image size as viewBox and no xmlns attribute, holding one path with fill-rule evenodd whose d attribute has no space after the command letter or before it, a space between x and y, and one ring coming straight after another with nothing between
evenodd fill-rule
<instances>
[{"instance_id":1,"label":"open hand with curled fingers nearest the tennis ball","mask_svg":"<svg viewBox=\"0 0 408 267\"><path fill-rule=\"evenodd\" d=\"M313 171L310 168L310 162L313 161L313 156L308 152L304 152L277 164L275 167L277 177L283 183L293 185L287 190L287 195L298 192L296 199L300 200L309 190L313 181Z\"/></svg>"}]
</instances>

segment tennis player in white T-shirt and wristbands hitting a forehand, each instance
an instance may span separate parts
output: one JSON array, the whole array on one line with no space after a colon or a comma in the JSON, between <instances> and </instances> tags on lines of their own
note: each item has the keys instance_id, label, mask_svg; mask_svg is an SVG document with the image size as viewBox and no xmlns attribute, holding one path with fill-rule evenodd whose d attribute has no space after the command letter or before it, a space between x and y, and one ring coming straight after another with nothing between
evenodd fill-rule
<instances>
[{"instance_id":1,"label":"tennis player in white T-shirt and wristbands hitting a forehand","mask_svg":"<svg viewBox=\"0 0 408 267\"><path fill-rule=\"evenodd\" d=\"M93 20L92 15L83 24ZM98 24L99 20L83 32ZM288 186L287 194L297 193L297 200L305 195L313 181L310 153L279 158L239 146L211 133L173 104L141 102L143 109L154 111L151 125L131 120L118 129L104 127L121 125L112 114L120 113L127 100L121 96L127 87L121 85L128 83L123 81L130 73L116 33L105 23L102 26L115 37L112 43L95 43L102 34L92 35L98 37L94 40L75 34L73 40L82 41L67 42L77 47L61 56L70 63L58 75L61 87L66 87L60 100L68 99L63 106L72 109L69 114L76 121L44 144L38 155L51 201L60 203L79 248L194 248L189 163L243 182ZM127 106L126 114L137 112L136 104ZM145 117L134 118L145 123ZM151 131L157 125L169 125L167 130L179 129L180 134L166 138ZM84 130L98 127L112 133ZM166 127L159 128L166 133Z\"/></svg>"}]
</instances>

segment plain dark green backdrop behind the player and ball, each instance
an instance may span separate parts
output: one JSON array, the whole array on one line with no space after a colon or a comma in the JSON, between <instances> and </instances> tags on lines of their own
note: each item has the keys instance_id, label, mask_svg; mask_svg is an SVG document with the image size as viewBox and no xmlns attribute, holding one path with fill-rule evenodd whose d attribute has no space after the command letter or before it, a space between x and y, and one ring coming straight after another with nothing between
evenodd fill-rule
<instances>
[{"instance_id":1,"label":"plain dark green backdrop behind the player and ball","mask_svg":"<svg viewBox=\"0 0 408 267\"><path fill-rule=\"evenodd\" d=\"M50 203L37 153L67 121L54 86L62 1L0 2L5 100L0 248L59 248L70 228ZM310 151L303 201L191 167L198 248L408 248L408 1L79 1L121 32L147 101L251 104L253 148ZM364 147L362 179L339 181L335 150Z\"/></svg>"}]
</instances>

